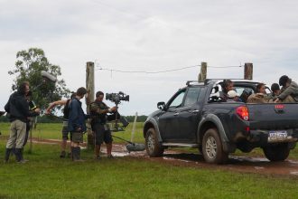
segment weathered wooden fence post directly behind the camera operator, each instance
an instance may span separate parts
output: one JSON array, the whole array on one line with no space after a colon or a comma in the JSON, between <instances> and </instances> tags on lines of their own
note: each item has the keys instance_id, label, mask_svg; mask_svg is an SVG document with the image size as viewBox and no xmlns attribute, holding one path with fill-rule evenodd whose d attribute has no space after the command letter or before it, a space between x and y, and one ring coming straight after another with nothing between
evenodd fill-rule
<instances>
[{"instance_id":1,"label":"weathered wooden fence post directly behind the camera operator","mask_svg":"<svg viewBox=\"0 0 298 199\"><path fill-rule=\"evenodd\" d=\"M87 98L86 98L86 105L87 105L87 114L90 114L90 103L94 101L95 97L95 84L94 84L94 62L87 62L86 66L86 90L87 90ZM87 121L87 135L88 135L88 149L94 149L94 137L91 130L91 120L88 119Z\"/></svg>"}]
</instances>

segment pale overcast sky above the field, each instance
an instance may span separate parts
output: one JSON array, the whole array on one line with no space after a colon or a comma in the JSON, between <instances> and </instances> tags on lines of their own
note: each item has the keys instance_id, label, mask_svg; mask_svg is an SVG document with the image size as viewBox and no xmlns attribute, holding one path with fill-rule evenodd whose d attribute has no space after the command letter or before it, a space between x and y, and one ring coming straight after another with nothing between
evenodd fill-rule
<instances>
[{"instance_id":1,"label":"pale overcast sky above the field","mask_svg":"<svg viewBox=\"0 0 298 199\"><path fill-rule=\"evenodd\" d=\"M42 48L70 90L98 69L163 71L208 62L254 64L254 80L298 81L297 1L0 0L0 107L11 93L15 54ZM196 80L199 67L160 74L96 71L96 89L130 95L125 115L149 114ZM208 78L243 78L243 68L208 69ZM110 104L111 105L111 104Z\"/></svg>"}]
</instances>

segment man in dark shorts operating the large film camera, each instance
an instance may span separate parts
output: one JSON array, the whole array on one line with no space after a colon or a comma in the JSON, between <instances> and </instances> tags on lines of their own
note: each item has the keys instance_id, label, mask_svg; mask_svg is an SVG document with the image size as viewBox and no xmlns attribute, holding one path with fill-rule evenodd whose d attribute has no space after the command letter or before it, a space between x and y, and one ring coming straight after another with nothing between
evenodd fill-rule
<instances>
[{"instance_id":1,"label":"man in dark shorts operating the large film camera","mask_svg":"<svg viewBox=\"0 0 298 199\"><path fill-rule=\"evenodd\" d=\"M100 146L105 141L107 145L107 157L113 158L112 156L112 142L113 138L111 135L111 130L107 126L107 121L115 120L115 118L120 118L117 113L117 108L109 108L107 104L103 102L104 93L98 91L96 94L96 100L90 104L90 114L91 114L91 127L95 132L95 158L100 159ZM107 113L111 115L107 116ZM117 115L117 116L116 116Z\"/></svg>"}]
</instances>

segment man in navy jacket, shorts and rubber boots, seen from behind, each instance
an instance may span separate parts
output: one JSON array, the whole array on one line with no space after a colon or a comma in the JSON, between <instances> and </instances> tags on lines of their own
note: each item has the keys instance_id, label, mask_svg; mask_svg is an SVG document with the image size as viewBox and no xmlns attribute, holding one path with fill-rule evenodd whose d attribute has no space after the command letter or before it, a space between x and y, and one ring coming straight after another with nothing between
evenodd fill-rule
<instances>
[{"instance_id":1,"label":"man in navy jacket, shorts and rubber boots, seen from behind","mask_svg":"<svg viewBox=\"0 0 298 199\"><path fill-rule=\"evenodd\" d=\"M83 87L76 92L76 97L70 100L69 104L69 131L71 138L71 155L73 161L82 161L80 158L79 143L83 142L83 132L86 132L85 119L88 115L81 108L81 100L86 95L87 90Z\"/></svg>"}]
</instances>

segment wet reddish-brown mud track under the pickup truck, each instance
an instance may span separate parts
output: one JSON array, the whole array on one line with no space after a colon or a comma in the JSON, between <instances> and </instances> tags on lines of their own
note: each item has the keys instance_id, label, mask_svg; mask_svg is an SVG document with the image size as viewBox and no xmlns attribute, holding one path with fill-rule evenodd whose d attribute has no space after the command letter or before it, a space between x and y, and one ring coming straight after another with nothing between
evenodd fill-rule
<instances>
[{"instance_id":1,"label":"wet reddish-brown mud track under the pickup truck","mask_svg":"<svg viewBox=\"0 0 298 199\"><path fill-rule=\"evenodd\" d=\"M28 140L29 142L29 140ZM60 144L60 140L33 139L33 143L40 144ZM86 147L86 145L83 147ZM106 152L106 148L102 148L102 152ZM222 169L228 171L236 171L239 173L256 173L265 175L293 175L298 176L298 160L287 159L284 162L270 162L264 157L253 156L229 156L227 165L210 165L204 162L200 154L185 153L177 150L165 150L163 157L149 157L145 151L128 153L125 145L113 145L113 155L121 158L130 156L132 158L142 158L146 161L170 164L173 166L188 166L197 168Z\"/></svg>"}]
</instances>

